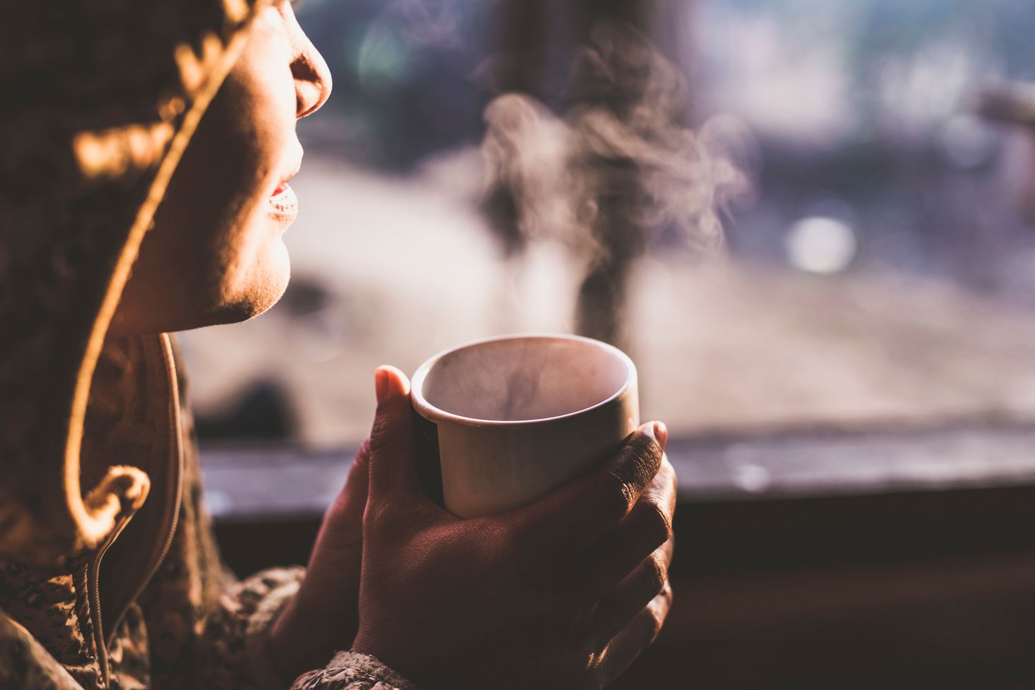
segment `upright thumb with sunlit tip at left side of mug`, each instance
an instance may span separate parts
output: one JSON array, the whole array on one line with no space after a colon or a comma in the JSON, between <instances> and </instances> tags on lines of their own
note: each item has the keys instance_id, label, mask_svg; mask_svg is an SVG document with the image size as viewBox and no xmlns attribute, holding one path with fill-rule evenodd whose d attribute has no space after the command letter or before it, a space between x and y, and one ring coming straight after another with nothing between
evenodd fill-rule
<instances>
[{"instance_id":1,"label":"upright thumb with sunlit tip at left side of mug","mask_svg":"<svg viewBox=\"0 0 1035 690\"><path fill-rule=\"evenodd\" d=\"M410 382L394 366L374 372L378 410L369 441L369 491L419 494Z\"/></svg>"}]
</instances>

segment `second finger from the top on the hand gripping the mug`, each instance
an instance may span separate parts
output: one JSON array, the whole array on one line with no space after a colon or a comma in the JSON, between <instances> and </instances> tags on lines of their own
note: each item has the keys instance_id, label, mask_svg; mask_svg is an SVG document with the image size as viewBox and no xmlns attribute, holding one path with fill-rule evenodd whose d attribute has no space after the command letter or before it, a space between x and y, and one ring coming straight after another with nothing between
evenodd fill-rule
<instances>
[{"instance_id":1,"label":"second finger from the top on the hand gripping the mug","mask_svg":"<svg viewBox=\"0 0 1035 690\"><path fill-rule=\"evenodd\" d=\"M598 600L613 590L657 547L671 542L676 512L676 472L668 459L615 528L580 554L575 576L587 596ZM671 548L670 548L671 560ZM657 594L654 592L651 596Z\"/></svg>"}]
</instances>

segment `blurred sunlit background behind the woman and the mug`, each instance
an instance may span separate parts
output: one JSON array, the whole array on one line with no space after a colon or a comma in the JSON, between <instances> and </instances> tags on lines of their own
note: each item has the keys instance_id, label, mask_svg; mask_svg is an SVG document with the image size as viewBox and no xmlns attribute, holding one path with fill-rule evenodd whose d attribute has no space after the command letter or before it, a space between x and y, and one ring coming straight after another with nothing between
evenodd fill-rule
<instances>
[{"instance_id":1,"label":"blurred sunlit background behind the woman and the mug","mask_svg":"<svg viewBox=\"0 0 1035 690\"><path fill-rule=\"evenodd\" d=\"M623 687L1035 687L1028 0L297 11L334 93L291 286L182 339L235 567L271 524L304 561L377 365L579 332L680 476Z\"/></svg>"}]
</instances>

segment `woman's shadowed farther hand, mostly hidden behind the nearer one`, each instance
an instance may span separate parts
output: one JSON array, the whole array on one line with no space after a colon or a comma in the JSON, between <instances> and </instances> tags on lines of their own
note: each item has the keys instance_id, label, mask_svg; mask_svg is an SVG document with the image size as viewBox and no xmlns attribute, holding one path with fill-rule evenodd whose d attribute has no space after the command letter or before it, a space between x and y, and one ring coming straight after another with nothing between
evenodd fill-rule
<instances>
[{"instance_id":1,"label":"woman's shadowed farther hand, mostly hidden behind the nearer one","mask_svg":"<svg viewBox=\"0 0 1035 690\"><path fill-rule=\"evenodd\" d=\"M270 632L273 662L286 683L348 650L359 627L359 571L369 444L324 515L305 578Z\"/></svg>"}]
</instances>

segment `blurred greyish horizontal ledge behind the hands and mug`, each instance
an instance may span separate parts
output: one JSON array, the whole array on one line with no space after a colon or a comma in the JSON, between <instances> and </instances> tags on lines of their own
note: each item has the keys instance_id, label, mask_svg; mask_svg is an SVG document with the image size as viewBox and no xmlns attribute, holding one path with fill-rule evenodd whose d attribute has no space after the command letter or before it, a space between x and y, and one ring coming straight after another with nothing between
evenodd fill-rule
<instances>
[{"instance_id":1,"label":"blurred greyish horizontal ledge behind the hands and mug","mask_svg":"<svg viewBox=\"0 0 1035 690\"><path fill-rule=\"evenodd\" d=\"M675 437L680 501L758 502L1035 485L1035 425L787 429ZM320 515L354 449L204 446L209 506L220 519Z\"/></svg>"}]
</instances>

